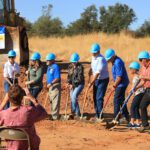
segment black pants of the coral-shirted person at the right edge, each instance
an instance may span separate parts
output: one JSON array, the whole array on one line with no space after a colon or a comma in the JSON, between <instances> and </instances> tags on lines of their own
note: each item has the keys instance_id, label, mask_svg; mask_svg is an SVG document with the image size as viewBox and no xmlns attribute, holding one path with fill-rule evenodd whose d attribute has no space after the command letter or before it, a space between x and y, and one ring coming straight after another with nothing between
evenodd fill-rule
<instances>
[{"instance_id":1,"label":"black pants of the coral-shirted person at the right edge","mask_svg":"<svg viewBox=\"0 0 150 150\"><path fill-rule=\"evenodd\" d=\"M142 119L142 125L144 127L148 126L148 113L147 108L150 104L150 89L146 89L144 96L142 98L140 109L141 109L141 119Z\"/></svg>"}]
</instances>

